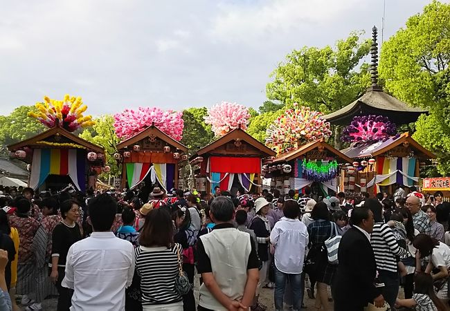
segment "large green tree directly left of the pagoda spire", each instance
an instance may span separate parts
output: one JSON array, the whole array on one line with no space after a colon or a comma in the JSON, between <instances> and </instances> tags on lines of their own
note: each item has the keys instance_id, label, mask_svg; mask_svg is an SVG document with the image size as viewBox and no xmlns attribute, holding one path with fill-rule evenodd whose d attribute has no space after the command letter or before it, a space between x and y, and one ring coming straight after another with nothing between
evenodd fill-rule
<instances>
[{"instance_id":1,"label":"large green tree directly left of the pagoda spire","mask_svg":"<svg viewBox=\"0 0 450 311\"><path fill-rule=\"evenodd\" d=\"M304 46L293 50L271 73L267 98L283 104L303 102L316 111L329 113L349 104L368 86L368 64L359 66L370 50L363 32L352 32L336 47Z\"/></svg>"}]
</instances>

